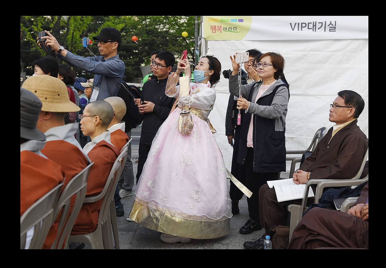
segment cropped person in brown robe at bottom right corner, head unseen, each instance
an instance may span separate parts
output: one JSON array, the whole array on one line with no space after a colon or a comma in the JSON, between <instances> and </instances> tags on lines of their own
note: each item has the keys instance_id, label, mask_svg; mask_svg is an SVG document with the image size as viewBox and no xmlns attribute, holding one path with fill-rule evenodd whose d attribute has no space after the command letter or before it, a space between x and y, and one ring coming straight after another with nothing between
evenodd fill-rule
<instances>
[{"instance_id":1,"label":"cropped person in brown robe at bottom right corner, head unseen","mask_svg":"<svg viewBox=\"0 0 386 268\"><path fill-rule=\"evenodd\" d=\"M369 248L369 183L347 213L313 208L293 231L290 249Z\"/></svg>"}]
</instances>

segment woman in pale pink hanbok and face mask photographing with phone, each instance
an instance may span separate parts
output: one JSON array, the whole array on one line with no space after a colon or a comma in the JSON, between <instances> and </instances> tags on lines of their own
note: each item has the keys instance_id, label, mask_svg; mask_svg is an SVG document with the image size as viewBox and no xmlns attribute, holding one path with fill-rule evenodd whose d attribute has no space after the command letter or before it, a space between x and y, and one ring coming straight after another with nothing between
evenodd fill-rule
<instances>
[{"instance_id":1,"label":"woman in pale pink hanbok and face mask photographing with phone","mask_svg":"<svg viewBox=\"0 0 386 268\"><path fill-rule=\"evenodd\" d=\"M182 70L185 77L179 77ZM227 172L208 119L220 71L218 59L207 55L195 67L195 83L190 83L188 60L180 59L177 71L168 77L165 94L178 97L178 107L154 137L129 216L163 232L161 240L166 243L229 233L232 213ZM193 129L186 119L189 111Z\"/></svg>"}]
</instances>

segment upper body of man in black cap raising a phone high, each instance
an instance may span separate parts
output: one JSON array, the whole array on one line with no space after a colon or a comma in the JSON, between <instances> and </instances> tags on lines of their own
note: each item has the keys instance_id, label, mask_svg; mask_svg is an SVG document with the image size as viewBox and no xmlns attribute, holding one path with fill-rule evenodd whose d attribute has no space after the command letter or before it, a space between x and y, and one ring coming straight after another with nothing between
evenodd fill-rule
<instances>
[{"instance_id":1,"label":"upper body of man in black cap raising a phone high","mask_svg":"<svg viewBox=\"0 0 386 268\"><path fill-rule=\"evenodd\" d=\"M102 28L100 34L93 37L97 41L100 56L86 58L64 49L52 34L45 32L48 36L42 39L46 39L46 45L49 45L61 60L95 74L90 102L118 95L125 72L125 64L118 55L118 47L122 41L119 30L111 27ZM40 46L39 41L37 44Z\"/></svg>"}]
</instances>

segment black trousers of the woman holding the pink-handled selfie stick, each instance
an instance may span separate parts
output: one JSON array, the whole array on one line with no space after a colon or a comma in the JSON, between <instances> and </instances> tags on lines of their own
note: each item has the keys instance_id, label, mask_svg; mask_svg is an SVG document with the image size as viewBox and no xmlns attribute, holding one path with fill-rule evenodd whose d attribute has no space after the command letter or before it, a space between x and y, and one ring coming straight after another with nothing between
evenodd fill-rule
<instances>
[{"instance_id":1,"label":"black trousers of the woman holding the pink-handled selfie stick","mask_svg":"<svg viewBox=\"0 0 386 268\"><path fill-rule=\"evenodd\" d=\"M252 192L251 198L247 198L249 218L259 218L259 189L267 181L278 179L278 172L257 173L253 172L253 148L248 147L245 158L245 186Z\"/></svg>"}]
</instances>

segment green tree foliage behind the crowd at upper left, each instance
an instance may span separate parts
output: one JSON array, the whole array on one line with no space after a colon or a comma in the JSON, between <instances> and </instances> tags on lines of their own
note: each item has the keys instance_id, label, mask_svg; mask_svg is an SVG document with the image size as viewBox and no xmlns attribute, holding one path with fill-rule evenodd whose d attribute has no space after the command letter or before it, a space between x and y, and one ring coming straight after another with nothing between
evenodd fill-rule
<instances>
[{"instance_id":1,"label":"green tree foliage behind the crowd at upper left","mask_svg":"<svg viewBox=\"0 0 386 268\"><path fill-rule=\"evenodd\" d=\"M122 33L118 53L125 63L124 80L127 82L142 77L140 67L150 64L150 53L154 50L168 50L178 60L186 49L188 59L194 60L194 16L21 16L20 71L32 75L32 62L46 56L36 44L36 37L42 30L51 32L70 52L90 57L93 55L83 48L81 39L92 39L103 27L114 27ZM188 37L182 37L182 32L188 32ZM138 37L138 44L131 40L133 35ZM98 55L96 42L89 49ZM58 57L56 59L59 61ZM74 71L77 76L93 77L79 68L74 67Z\"/></svg>"}]
</instances>

